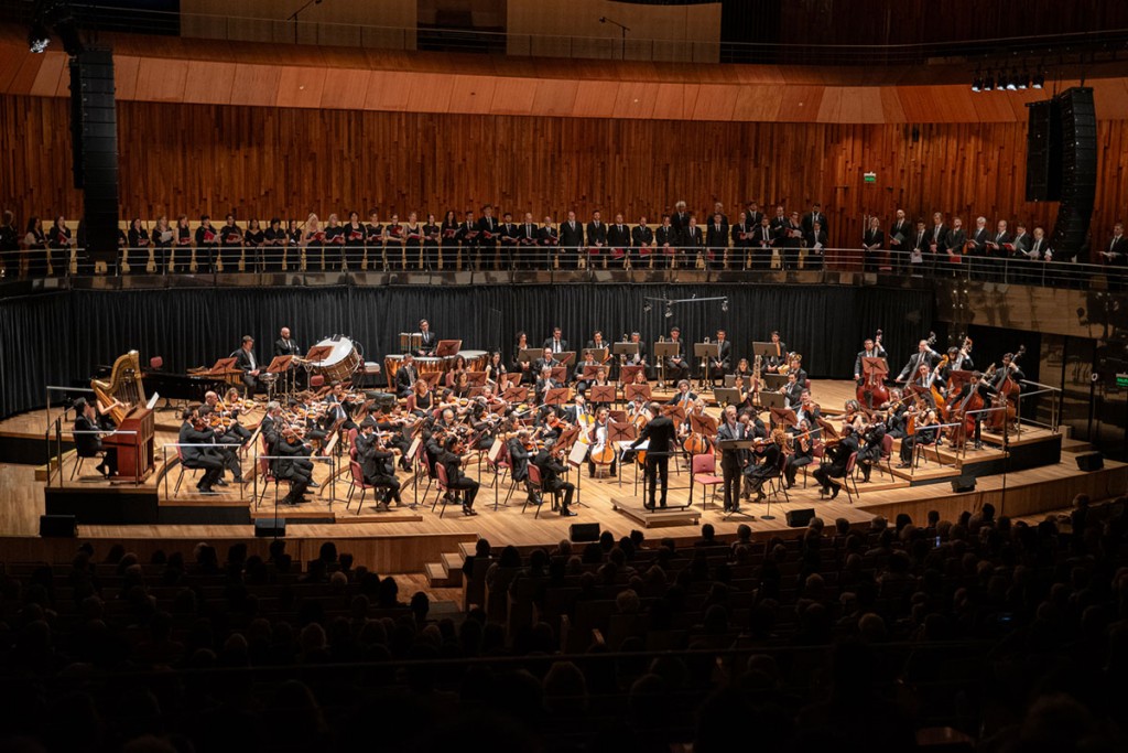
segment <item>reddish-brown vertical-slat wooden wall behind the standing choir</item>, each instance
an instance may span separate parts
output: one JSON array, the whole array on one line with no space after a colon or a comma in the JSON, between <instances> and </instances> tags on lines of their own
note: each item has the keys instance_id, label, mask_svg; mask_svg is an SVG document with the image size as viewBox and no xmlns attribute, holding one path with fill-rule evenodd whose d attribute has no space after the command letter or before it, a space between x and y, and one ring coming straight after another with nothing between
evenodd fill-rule
<instances>
[{"instance_id":1,"label":"reddish-brown vertical-slat wooden wall behind the standing choir","mask_svg":"<svg viewBox=\"0 0 1128 753\"><path fill-rule=\"evenodd\" d=\"M479 82L458 88L469 96ZM697 94L696 86L688 88ZM609 102L616 96L613 89ZM671 97L669 106L678 102L681 97ZM656 219L685 199L698 211L722 201L735 219L735 205L752 199L803 210L819 200L830 217L831 242L853 247L866 213L888 222L898 207L910 217L942 210L966 222L984 214L1047 229L1057 212L1054 203L1022 201L1023 122L925 123L914 140L913 125L905 123L702 123L123 102L118 128L123 217L217 216L233 208L240 218L305 218L309 211L324 217L370 207L386 214L411 209L441 214L488 201L538 218L601 208ZM5 100L0 173L9 178L0 182L0 208L11 208L21 222L33 212L79 214L68 160L58 158L69 154L69 133L67 99ZM1103 239L1128 205L1128 122L1101 121L1098 145L1101 187L1093 227ZM878 182L864 184L864 172L875 172Z\"/></svg>"}]
</instances>

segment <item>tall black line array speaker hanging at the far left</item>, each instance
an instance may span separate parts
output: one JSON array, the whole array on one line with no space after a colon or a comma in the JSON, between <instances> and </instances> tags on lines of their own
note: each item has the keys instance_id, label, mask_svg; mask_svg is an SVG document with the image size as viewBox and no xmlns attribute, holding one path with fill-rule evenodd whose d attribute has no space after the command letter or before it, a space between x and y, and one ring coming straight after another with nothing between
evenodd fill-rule
<instances>
[{"instance_id":1,"label":"tall black line array speaker hanging at the far left","mask_svg":"<svg viewBox=\"0 0 1128 753\"><path fill-rule=\"evenodd\" d=\"M85 50L71 58L71 156L82 190L82 243L92 259L117 254L117 104L114 56Z\"/></svg>"}]
</instances>

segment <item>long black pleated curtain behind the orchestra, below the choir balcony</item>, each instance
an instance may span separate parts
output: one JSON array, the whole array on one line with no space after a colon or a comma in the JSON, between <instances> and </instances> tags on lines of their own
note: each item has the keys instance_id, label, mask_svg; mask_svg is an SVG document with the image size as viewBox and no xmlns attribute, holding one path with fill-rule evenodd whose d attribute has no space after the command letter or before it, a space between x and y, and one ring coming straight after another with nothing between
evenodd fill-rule
<instances>
[{"instance_id":1,"label":"long black pleated curtain behind the orchestra, below the choir balcony","mask_svg":"<svg viewBox=\"0 0 1128 753\"><path fill-rule=\"evenodd\" d=\"M688 299L664 316L646 297ZM728 331L734 356L779 330L784 342L803 354L811 376L845 378L866 336L881 329L892 368L927 334L933 316L929 294L837 286L479 286L385 288L199 288L168 290L70 290L0 301L0 415L44 404L49 384L87 380L99 365L138 350L142 364L161 356L165 369L210 366L256 340L259 360L268 361L283 325L308 348L343 334L356 341L365 360L382 362L398 352L399 332L414 332L421 317L442 339L459 339L467 350L500 348L506 358L514 334L525 330L539 344L554 325L582 347L596 329L608 341L638 330L652 343L678 325L686 341Z\"/></svg>"}]
</instances>

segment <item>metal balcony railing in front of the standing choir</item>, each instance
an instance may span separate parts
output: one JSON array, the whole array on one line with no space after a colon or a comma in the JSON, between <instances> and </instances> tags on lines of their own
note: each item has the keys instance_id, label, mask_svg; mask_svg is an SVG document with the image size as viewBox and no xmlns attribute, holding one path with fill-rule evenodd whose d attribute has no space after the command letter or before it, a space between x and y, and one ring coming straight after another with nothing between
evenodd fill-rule
<instances>
[{"instance_id":1,"label":"metal balcony railing in front of the standing choir","mask_svg":"<svg viewBox=\"0 0 1128 753\"><path fill-rule=\"evenodd\" d=\"M132 264L130 255L133 255ZM61 270L59 268L62 268ZM34 266L38 270L38 266ZM5 288L180 287L187 284L519 284L522 282L821 282L899 284L960 280L1128 291L1128 266L1015 256L869 253L805 247L562 247L519 244L449 246L267 246L126 251L91 262L77 249L58 274L7 270ZM191 280L191 281L190 281ZM91 282L92 281L92 282ZM1001 290L1005 291L1005 289Z\"/></svg>"}]
</instances>

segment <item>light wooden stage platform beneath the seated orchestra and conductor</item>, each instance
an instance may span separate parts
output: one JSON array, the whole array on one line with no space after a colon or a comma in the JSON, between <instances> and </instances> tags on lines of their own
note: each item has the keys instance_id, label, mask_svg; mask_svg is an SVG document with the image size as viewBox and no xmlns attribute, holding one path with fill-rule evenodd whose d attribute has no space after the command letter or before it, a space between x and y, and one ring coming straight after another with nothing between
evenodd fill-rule
<instances>
[{"instance_id":1,"label":"light wooden stage platform beneath the seated orchestra and conductor","mask_svg":"<svg viewBox=\"0 0 1128 753\"><path fill-rule=\"evenodd\" d=\"M853 383L816 382L812 392L823 411L829 413L853 396ZM47 419L43 411L9 419L0 422L0 435L9 441L23 437L27 441L42 443ZM177 549L191 551L201 541L223 545L224 541L253 539L253 520L256 517L274 517L273 489L267 491L265 500L256 509L252 499L253 485L240 489L232 484L218 497L204 497L194 493L190 471L185 474L180 492L174 493L173 487L180 469L175 462L167 466L161 463L160 445L176 440L176 426L174 412L159 414L158 470L140 488L111 487L100 476L90 478L94 474L92 464L91 467L83 466L82 473L70 481L73 453L63 458L62 485L60 472L55 470L51 474L50 489L45 483L45 469L0 464L0 499L8 501L0 506L0 542L5 551L17 559L68 558L74 550L74 540L39 539L38 516L44 511L59 511L61 504L81 513L83 505L94 505L106 497L143 498L144 504L152 508L152 517L144 523L81 524L79 537L103 542L100 549L107 548L111 542L122 542L126 549L146 558L157 549L166 552ZM987 443L995 439L985 435ZM327 471L318 472L323 487L315 490L316 501L280 508L279 515L287 519L288 551L296 557L311 559L316 557L317 548L332 539L337 542L338 550L352 552L358 563L380 572L417 573L428 563L441 561L444 554L458 552L460 544L473 543L479 536L494 544L550 544L569 537L574 523L598 523L601 529L611 531L616 537L626 535L632 528L640 528L647 537L676 539L696 537L699 525L706 522L712 523L721 535L734 534L739 525L747 524L755 536L767 537L787 535L787 513L805 508L812 508L828 524L844 517L852 524L865 526L878 515L891 520L899 513L908 513L914 519L923 519L929 509L940 510L942 517L951 519L964 509L977 509L988 501L1002 515L1030 517L1067 507L1077 493L1087 493L1094 500L1125 493L1128 466L1105 461L1101 471L1079 471L1073 453L1081 449L1087 447L1046 429L1024 427L1021 438L1012 436L1008 454L987 446L959 456L951 448L943 447L938 463L929 453L928 458L911 472L893 467L890 475L875 469L870 483L857 484L860 493L853 499L844 490L835 500L820 500L813 480L804 487L801 474L786 500L781 497L772 501L774 519L764 519L766 505L749 502L742 502L744 514L725 516L721 510L720 493L714 501L712 490L703 490L699 484L693 491L691 515L673 520L660 519L670 518L669 513L666 516L642 517L638 511L641 479L636 485L638 473L633 465L620 469L616 479L591 479L584 469L579 504L573 506L579 515L571 518L553 514L547 504L539 517L535 517L532 508L522 511L523 494L519 491L513 493L508 505L504 504L508 480L495 489L493 474L484 464L481 471L476 467L470 471L470 475L482 483L475 505L479 515L474 517L462 516L453 507L440 516L439 509L432 510L433 489L422 504L425 479L417 490L413 490L411 475L404 472L399 472L405 487L404 500L411 502L417 499L421 502L417 509L393 507L388 513L377 511L369 494L364 509L356 515L355 502L346 509L347 479L336 482L334 497L334 485L326 479ZM1030 461L1031 457L1046 462L1024 465L1023 458ZM1022 470L1015 470L1019 466L1023 466ZM248 457L244 461L247 475L250 467L252 459ZM571 476L575 482L575 472ZM949 482L960 476L975 476L975 491L953 493ZM669 502L671 506L685 505L688 498L689 474L685 465L678 463L678 471L671 466ZM51 505L46 500L51 500ZM267 540L254 541L252 549L265 551L267 543Z\"/></svg>"}]
</instances>

